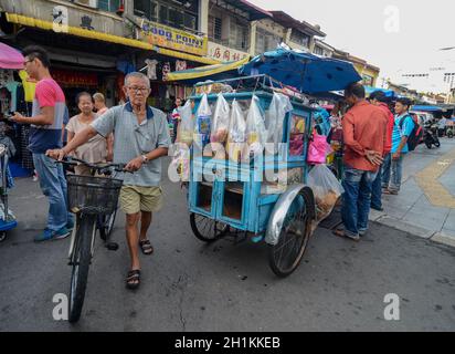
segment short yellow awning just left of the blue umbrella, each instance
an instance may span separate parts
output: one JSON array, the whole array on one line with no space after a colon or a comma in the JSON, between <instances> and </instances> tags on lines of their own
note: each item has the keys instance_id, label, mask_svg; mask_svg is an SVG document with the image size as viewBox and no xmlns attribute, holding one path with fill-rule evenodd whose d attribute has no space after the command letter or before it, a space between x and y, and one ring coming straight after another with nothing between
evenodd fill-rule
<instances>
[{"instance_id":1,"label":"short yellow awning just left of the blue umbrella","mask_svg":"<svg viewBox=\"0 0 455 354\"><path fill-rule=\"evenodd\" d=\"M250 58L244 58L236 62L228 62L223 64L208 65L184 71L176 71L168 74L168 81L180 81L186 84L195 84L204 80L223 80L228 77L239 76L237 70L246 64Z\"/></svg>"}]
</instances>

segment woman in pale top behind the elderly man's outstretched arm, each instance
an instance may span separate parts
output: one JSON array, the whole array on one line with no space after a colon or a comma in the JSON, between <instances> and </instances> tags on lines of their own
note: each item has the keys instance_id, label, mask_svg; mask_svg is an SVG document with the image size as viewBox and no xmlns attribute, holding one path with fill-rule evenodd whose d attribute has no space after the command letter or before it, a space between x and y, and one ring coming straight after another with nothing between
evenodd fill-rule
<instances>
[{"instance_id":1,"label":"woman in pale top behind the elderly man's outstretched arm","mask_svg":"<svg viewBox=\"0 0 455 354\"><path fill-rule=\"evenodd\" d=\"M93 112L93 101L92 95L87 92L82 92L76 98L77 106L81 111L80 114L72 117L66 125L66 131L68 132L67 140L68 143L74 138L74 136L86 128L91 123L93 123L97 115ZM80 146L74 152L75 157L83 159L87 163L98 164L105 163L108 158L109 150L107 139L99 134L89 139L86 144ZM86 166L76 166L75 171L77 175L91 176L91 170Z\"/></svg>"}]
</instances>

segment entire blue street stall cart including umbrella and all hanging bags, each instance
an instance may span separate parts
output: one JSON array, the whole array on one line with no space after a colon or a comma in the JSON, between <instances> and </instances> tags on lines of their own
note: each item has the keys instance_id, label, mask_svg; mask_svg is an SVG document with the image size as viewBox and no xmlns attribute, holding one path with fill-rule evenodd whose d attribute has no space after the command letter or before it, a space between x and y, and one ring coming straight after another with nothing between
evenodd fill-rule
<instances>
[{"instance_id":1,"label":"entire blue street stall cart including umbrella and all hanging bags","mask_svg":"<svg viewBox=\"0 0 455 354\"><path fill-rule=\"evenodd\" d=\"M189 180L197 238L265 241L273 272L287 277L342 192L325 165L326 138L313 134L317 110L309 97L361 77L350 63L284 49L239 72L243 76L194 85L172 164Z\"/></svg>"}]
</instances>

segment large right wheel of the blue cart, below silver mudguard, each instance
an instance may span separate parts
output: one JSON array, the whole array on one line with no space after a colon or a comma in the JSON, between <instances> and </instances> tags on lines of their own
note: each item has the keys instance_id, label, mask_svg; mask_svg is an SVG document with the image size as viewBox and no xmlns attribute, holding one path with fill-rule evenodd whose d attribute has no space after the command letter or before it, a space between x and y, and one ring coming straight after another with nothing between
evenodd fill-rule
<instances>
[{"instance_id":1,"label":"large right wheel of the blue cart, below silver mudguard","mask_svg":"<svg viewBox=\"0 0 455 354\"><path fill-rule=\"evenodd\" d=\"M309 204L307 197L304 196L304 198L305 206L299 211L293 212L289 208L278 243L269 246L268 249L268 263L272 271L279 278L290 275L300 264L311 235Z\"/></svg>"}]
</instances>

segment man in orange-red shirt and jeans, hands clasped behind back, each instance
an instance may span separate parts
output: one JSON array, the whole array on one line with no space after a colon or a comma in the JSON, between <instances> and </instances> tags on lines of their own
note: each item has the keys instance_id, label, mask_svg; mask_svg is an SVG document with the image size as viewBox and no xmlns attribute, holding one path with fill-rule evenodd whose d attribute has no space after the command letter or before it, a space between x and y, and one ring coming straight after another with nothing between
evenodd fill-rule
<instances>
[{"instance_id":1,"label":"man in orange-red shirt and jeans, hands clasped behind back","mask_svg":"<svg viewBox=\"0 0 455 354\"><path fill-rule=\"evenodd\" d=\"M343 229L335 235L360 240L368 230L371 187L384 155L387 114L364 100L364 87L355 83L345 90L351 106L342 119L345 156L341 218Z\"/></svg>"}]
</instances>

